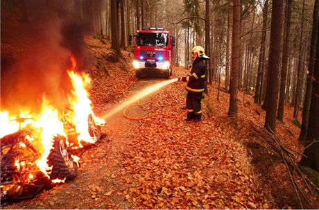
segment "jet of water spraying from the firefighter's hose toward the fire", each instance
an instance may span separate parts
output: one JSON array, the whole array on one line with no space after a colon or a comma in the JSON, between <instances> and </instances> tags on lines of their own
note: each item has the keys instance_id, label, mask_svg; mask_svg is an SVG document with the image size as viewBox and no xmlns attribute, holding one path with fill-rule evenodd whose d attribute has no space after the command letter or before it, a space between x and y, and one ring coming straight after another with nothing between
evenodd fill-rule
<instances>
[{"instance_id":1,"label":"jet of water spraying from the firefighter's hose toward the fire","mask_svg":"<svg viewBox=\"0 0 319 210\"><path fill-rule=\"evenodd\" d=\"M169 84L171 84L173 82L177 82L177 81L178 81L178 78L171 79L171 80L165 80L163 82L159 82L159 83L156 83L155 85L151 85L150 87L146 87L146 88L142 89L137 94L132 96L132 98L130 98L130 100L124 101L123 103L121 103L121 105L119 105L118 107L115 107L113 110L111 110L111 112L108 112L107 114L102 116L102 119L105 119L105 120L109 119L110 116L123 110L123 108L128 107L128 105L131 105L132 103L137 102L141 98L144 98L145 96L148 96L149 94L152 94L153 92L157 91L158 89L161 89L162 87L165 87L166 85L169 85Z\"/></svg>"}]
</instances>

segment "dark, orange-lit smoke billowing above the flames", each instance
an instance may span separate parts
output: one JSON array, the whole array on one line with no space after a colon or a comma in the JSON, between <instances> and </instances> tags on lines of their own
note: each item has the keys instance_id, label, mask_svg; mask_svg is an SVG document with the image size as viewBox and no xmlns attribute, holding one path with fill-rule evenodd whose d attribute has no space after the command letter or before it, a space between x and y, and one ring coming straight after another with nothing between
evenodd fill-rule
<instances>
[{"instance_id":1,"label":"dark, orange-lit smoke billowing above the flames","mask_svg":"<svg viewBox=\"0 0 319 210\"><path fill-rule=\"evenodd\" d=\"M53 105L67 103L67 69L89 66L84 35L73 1L1 1L1 110L34 110L45 94Z\"/></svg>"}]
</instances>

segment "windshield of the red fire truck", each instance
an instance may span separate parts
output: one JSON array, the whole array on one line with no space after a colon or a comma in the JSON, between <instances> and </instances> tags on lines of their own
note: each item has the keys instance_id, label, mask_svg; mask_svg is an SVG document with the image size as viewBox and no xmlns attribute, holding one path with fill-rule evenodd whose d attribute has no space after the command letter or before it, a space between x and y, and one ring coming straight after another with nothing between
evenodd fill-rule
<instances>
[{"instance_id":1,"label":"windshield of the red fire truck","mask_svg":"<svg viewBox=\"0 0 319 210\"><path fill-rule=\"evenodd\" d=\"M167 46L167 33L139 33L138 46Z\"/></svg>"}]
</instances>

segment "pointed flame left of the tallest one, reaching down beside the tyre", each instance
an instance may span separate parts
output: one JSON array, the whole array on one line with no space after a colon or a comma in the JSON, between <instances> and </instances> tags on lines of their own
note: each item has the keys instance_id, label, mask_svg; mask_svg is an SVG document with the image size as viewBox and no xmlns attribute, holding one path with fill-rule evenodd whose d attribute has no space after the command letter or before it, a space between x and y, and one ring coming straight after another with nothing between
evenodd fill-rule
<instances>
[{"instance_id":1,"label":"pointed flame left of the tallest one, reaching down beside the tyre","mask_svg":"<svg viewBox=\"0 0 319 210\"><path fill-rule=\"evenodd\" d=\"M63 123L58 117L58 110L55 110L45 98L43 98L40 115L35 122L35 127L40 130L42 139L42 157L36 161L36 164L49 177L46 171L49 168L46 159L50 154L51 148L53 148L53 138L57 134L64 137L66 134L64 134Z\"/></svg>"}]
</instances>

